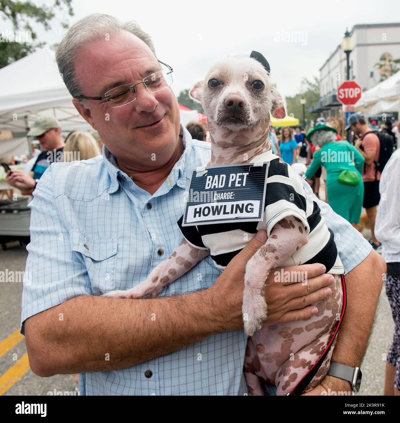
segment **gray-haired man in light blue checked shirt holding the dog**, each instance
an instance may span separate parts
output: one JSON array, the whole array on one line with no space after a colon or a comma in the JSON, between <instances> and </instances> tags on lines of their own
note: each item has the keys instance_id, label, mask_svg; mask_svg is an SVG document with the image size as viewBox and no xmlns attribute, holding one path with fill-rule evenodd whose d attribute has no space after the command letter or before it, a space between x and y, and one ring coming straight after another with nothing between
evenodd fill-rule
<instances>
[{"instance_id":1,"label":"gray-haired man in light blue checked shirt holding the dog","mask_svg":"<svg viewBox=\"0 0 400 423\"><path fill-rule=\"evenodd\" d=\"M26 269L32 284L24 286L21 317L31 368L39 376L79 372L86 395L246 394L243 276L266 232L221 275L207 258L164 296L100 297L138 285L182 242L176 222L184 193L192 169L209 162L210 144L192 140L180 125L170 86L152 89L156 72L172 68L157 62L151 38L135 23L88 16L69 28L56 57L75 107L104 148L84 163L51 165L34 192ZM120 91L128 84L135 89ZM115 107L118 96L126 97ZM357 231L324 210L348 287L332 360L355 367L386 268ZM333 277L318 264L284 271L307 272L307 283L269 283L265 324L305 319L316 312L311 304L331 293ZM309 394L329 389L351 386L326 376Z\"/></svg>"}]
</instances>

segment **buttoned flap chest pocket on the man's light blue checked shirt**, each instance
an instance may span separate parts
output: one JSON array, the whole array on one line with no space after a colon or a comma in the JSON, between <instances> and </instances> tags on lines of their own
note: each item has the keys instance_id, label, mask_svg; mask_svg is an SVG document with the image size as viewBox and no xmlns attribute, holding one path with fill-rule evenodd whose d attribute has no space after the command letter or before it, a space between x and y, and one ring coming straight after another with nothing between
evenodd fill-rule
<instances>
[{"instance_id":1,"label":"buttoned flap chest pocket on the man's light blue checked shirt","mask_svg":"<svg viewBox=\"0 0 400 423\"><path fill-rule=\"evenodd\" d=\"M113 291L118 239L91 239L83 232L72 231L69 240L72 251L86 266L93 295Z\"/></svg>"}]
</instances>

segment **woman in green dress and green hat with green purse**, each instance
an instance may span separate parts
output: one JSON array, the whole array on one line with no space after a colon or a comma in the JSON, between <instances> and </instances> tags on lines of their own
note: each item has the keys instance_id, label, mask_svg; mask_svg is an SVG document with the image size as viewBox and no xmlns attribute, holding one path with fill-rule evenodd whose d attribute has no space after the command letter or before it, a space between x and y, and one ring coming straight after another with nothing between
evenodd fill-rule
<instances>
[{"instance_id":1,"label":"woman in green dress and green hat with green purse","mask_svg":"<svg viewBox=\"0 0 400 423\"><path fill-rule=\"evenodd\" d=\"M348 141L336 141L336 129L326 125L317 125L307 135L310 143L320 146L320 150L314 152L314 159L307 169L305 178L311 185L310 180L318 168L322 165L326 169L326 194L329 205L353 226L360 222L362 202L364 198L364 184L361 179L364 157ZM343 170L350 170L352 183L355 185L339 182L339 175ZM348 181L349 182L349 181Z\"/></svg>"}]
</instances>

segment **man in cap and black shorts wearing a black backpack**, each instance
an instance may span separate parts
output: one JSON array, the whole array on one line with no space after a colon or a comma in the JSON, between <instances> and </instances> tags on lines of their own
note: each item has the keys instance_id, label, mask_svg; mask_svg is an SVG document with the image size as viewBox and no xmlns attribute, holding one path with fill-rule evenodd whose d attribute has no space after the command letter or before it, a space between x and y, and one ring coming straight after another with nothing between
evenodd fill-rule
<instances>
[{"instance_id":1,"label":"man in cap and black shorts wearing a black backpack","mask_svg":"<svg viewBox=\"0 0 400 423\"><path fill-rule=\"evenodd\" d=\"M359 150L365 159L362 171L362 180L364 182L364 201L363 206L370 220L372 239L370 244L375 251L381 250L381 243L375 237L375 218L376 206L379 204L381 195L379 194L379 180L383 167L388 162L393 152L391 140L381 132L374 132L366 124L364 117L359 113L354 113L348 119L348 126L354 132L357 139L354 146Z\"/></svg>"}]
</instances>

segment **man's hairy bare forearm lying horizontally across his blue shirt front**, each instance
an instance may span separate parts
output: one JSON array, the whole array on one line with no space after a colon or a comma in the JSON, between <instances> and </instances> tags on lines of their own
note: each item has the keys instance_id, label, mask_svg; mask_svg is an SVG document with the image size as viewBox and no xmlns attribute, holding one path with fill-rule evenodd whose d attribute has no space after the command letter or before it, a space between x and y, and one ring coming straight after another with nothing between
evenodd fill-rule
<instances>
[{"instance_id":1,"label":"man's hairy bare forearm lying horizontally across his blue shirt front","mask_svg":"<svg viewBox=\"0 0 400 423\"><path fill-rule=\"evenodd\" d=\"M156 299L70 299L25 321L31 367L39 376L104 371L177 351L233 329L215 302L210 289Z\"/></svg>"}]
</instances>

